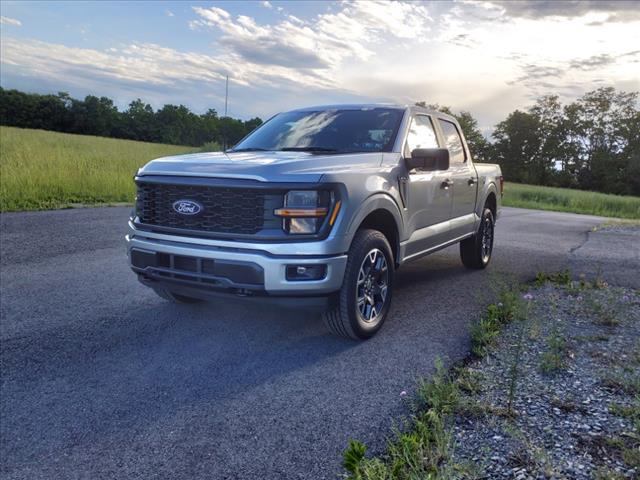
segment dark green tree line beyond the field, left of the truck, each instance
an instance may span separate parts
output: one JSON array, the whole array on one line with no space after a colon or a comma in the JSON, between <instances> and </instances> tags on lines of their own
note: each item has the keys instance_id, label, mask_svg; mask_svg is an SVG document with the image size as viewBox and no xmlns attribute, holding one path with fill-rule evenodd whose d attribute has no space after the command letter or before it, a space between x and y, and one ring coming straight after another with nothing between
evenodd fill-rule
<instances>
[{"instance_id":1,"label":"dark green tree line beyond the field, left of the truck","mask_svg":"<svg viewBox=\"0 0 640 480\"><path fill-rule=\"evenodd\" d=\"M238 142L262 120L219 117L214 109L197 115L184 105L164 105L154 110L140 99L119 111L107 97L88 95L79 100L64 92L39 95L0 87L0 124L174 145L217 144L224 148Z\"/></svg>"}]
</instances>

